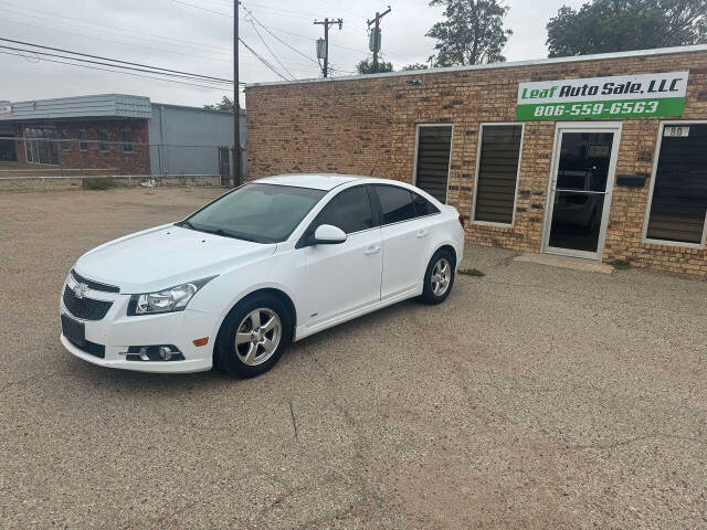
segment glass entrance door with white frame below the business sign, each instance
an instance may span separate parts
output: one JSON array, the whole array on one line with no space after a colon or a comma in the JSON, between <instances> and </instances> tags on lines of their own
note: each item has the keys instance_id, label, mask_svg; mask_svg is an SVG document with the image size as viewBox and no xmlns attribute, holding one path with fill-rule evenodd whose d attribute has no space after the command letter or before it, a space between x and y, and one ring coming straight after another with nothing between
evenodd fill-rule
<instances>
[{"instance_id":1,"label":"glass entrance door with white frame below the business sign","mask_svg":"<svg viewBox=\"0 0 707 530\"><path fill-rule=\"evenodd\" d=\"M545 251L600 259L620 129L558 127Z\"/></svg>"}]
</instances>

